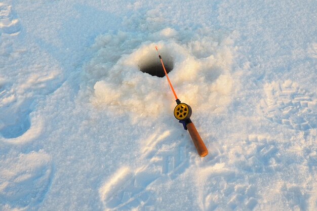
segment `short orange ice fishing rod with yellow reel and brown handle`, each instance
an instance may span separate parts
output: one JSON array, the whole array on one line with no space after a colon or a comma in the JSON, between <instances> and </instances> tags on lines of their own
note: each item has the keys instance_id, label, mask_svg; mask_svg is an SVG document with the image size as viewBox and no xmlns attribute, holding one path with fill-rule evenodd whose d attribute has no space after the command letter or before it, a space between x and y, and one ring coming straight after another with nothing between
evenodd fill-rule
<instances>
[{"instance_id":1,"label":"short orange ice fishing rod with yellow reel and brown handle","mask_svg":"<svg viewBox=\"0 0 317 211\"><path fill-rule=\"evenodd\" d=\"M190 120L191 107L189 105L187 105L186 103L181 103L181 101L178 99L178 97L176 95L176 92L175 92L175 90L174 90L174 88L172 86L171 80L170 80L169 76L167 75L167 72L166 72L162 57L160 55L159 50L157 49L157 46L155 46L155 49L156 49L157 53L159 54L159 58L161 60L161 63L162 63L162 66L163 66L167 81L168 81L168 83L170 85L170 88L171 88L171 90L172 90L172 92L173 92L173 94L175 96L175 99L176 99L177 105L174 108L174 116L175 116L176 119L179 120L180 123L183 124L184 129L188 130L189 135L190 135L190 137L191 137L191 139L192 139L192 141L193 141L193 143L194 143L194 145L196 147L196 150L197 150L198 154L201 157L205 157L206 155L208 155L208 150L207 150L207 147L205 146L201 136L197 132L195 125Z\"/></svg>"}]
</instances>

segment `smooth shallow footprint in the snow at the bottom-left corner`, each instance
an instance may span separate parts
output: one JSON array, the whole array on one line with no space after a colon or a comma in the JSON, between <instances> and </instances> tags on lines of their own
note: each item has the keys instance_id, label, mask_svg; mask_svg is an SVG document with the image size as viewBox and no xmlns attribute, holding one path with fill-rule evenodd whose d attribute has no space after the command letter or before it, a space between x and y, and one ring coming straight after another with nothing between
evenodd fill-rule
<instances>
[{"instance_id":1,"label":"smooth shallow footprint in the snow at the bottom-left corner","mask_svg":"<svg viewBox=\"0 0 317 211\"><path fill-rule=\"evenodd\" d=\"M20 154L0 162L0 210L27 209L41 203L52 180L51 158L44 152Z\"/></svg>"}]
</instances>

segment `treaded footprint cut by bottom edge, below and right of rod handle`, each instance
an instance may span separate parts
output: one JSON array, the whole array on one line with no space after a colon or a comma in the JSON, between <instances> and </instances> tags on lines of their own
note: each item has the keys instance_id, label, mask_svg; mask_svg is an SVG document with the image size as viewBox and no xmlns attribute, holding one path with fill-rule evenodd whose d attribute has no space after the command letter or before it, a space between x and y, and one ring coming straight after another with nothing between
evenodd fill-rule
<instances>
[{"instance_id":1,"label":"treaded footprint cut by bottom edge, below and right of rod handle","mask_svg":"<svg viewBox=\"0 0 317 211\"><path fill-rule=\"evenodd\" d=\"M253 210L257 206L256 187L244 183L243 176L225 168L225 163L208 166L199 174L208 175L199 184L204 187L199 191L201 210Z\"/></svg>"}]
</instances>

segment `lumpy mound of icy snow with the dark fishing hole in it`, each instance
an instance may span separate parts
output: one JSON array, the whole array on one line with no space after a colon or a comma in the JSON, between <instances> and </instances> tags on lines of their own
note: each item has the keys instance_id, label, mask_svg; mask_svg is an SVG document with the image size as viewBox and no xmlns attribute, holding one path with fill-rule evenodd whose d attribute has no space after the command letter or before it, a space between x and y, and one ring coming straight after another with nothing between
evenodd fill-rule
<instances>
[{"instance_id":1,"label":"lumpy mound of icy snow with the dark fishing hole in it","mask_svg":"<svg viewBox=\"0 0 317 211\"><path fill-rule=\"evenodd\" d=\"M182 102L199 107L195 111L221 111L230 103L233 86L230 69L234 53L231 38L226 37L220 43L205 37L185 41L185 45L174 39L131 44L127 40L133 35L125 33L125 39L117 38L118 42L122 40L121 46L135 46L134 49L115 51L104 47L109 37L115 40L122 36L123 32L97 37L95 57L84 66L86 77L95 81L91 102L96 107L111 113L129 113L132 117L140 114L155 117L174 109L175 99L166 78L161 78L164 72L162 65L159 66L161 62L155 46L167 69L173 69L169 77ZM205 49L204 57L197 57L195 51L211 41L214 47ZM109 58L109 50L117 56Z\"/></svg>"}]
</instances>

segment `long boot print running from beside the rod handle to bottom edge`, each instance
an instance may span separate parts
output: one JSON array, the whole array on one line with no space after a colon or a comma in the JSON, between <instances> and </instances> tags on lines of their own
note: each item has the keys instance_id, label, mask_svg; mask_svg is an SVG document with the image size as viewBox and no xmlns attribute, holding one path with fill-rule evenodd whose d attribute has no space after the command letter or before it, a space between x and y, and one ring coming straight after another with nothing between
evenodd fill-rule
<instances>
[{"instance_id":1,"label":"long boot print running from beside the rod handle to bottom edge","mask_svg":"<svg viewBox=\"0 0 317 211\"><path fill-rule=\"evenodd\" d=\"M135 171L122 167L104 183L99 193L105 210L155 210L157 198L151 185L162 178L174 180L189 166L189 143L174 142L169 137L169 131L157 131L142 145L148 164Z\"/></svg>"}]
</instances>

